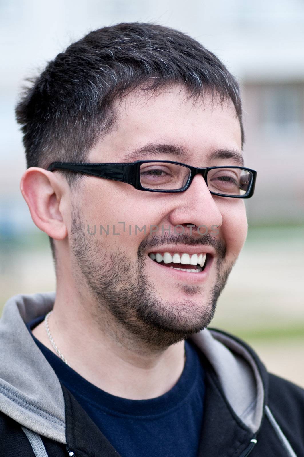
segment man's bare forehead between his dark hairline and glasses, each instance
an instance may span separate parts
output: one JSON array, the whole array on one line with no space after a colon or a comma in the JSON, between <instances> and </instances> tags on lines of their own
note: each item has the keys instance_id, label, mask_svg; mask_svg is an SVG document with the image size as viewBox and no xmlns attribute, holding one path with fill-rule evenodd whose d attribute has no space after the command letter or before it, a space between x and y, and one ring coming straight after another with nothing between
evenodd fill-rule
<instances>
[{"instance_id":1,"label":"man's bare forehead between his dark hairline and glasses","mask_svg":"<svg viewBox=\"0 0 304 457\"><path fill-rule=\"evenodd\" d=\"M133 91L116 101L114 111L114 126L92 149L90 161L131 162L162 154L162 147L149 145L166 145L165 159L200 166L214 151L241 152L241 131L232 101L221 104L208 94L194 101L180 87L169 87L156 94Z\"/></svg>"}]
</instances>

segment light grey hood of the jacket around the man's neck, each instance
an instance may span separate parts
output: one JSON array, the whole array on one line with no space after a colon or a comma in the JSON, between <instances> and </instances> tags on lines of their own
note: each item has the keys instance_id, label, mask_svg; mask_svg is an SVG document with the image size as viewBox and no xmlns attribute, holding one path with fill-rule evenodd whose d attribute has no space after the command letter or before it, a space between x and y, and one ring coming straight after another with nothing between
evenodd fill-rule
<instances>
[{"instance_id":1,"label":"light grey hood of the jacket around the man's neck","mask_svg":"<svg viewBox=\"0 0 304 457\"><path fill-rule=\"evenodd\" d=\"M65 444L61 385L26 327L47 314L54 299L55 292L19 294L5 304L0 320L0 411L23 427ZM211 363L235 414L255 433L265 395L253 352L215 329L204 329L190 339Z\"/></svg>"}]
</instances>

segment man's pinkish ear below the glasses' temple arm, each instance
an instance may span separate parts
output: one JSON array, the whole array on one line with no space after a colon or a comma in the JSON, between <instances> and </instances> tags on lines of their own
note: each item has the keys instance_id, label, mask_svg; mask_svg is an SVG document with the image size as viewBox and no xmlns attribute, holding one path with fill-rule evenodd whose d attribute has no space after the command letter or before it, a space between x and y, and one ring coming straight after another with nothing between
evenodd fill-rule
<instances>
[{"instance_id":1,"label":"man's pinkish ear below the glasses' temple arm","mask_svg":"<svg viewBox=\"0 0 304 457\"><path fill-rule=\"evenodd\" d=\"M62 240L67 236L62 197L67 185L52 171L30 167L22 175L20 190L27 202L33 222L51 238Z\"/></svg>"}]
</instances>

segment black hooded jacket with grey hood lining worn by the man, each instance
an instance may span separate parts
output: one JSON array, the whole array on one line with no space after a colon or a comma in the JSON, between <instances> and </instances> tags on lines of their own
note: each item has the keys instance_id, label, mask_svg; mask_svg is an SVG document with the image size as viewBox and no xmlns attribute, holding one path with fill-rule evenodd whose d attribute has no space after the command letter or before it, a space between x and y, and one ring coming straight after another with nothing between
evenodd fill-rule
<instances>
[{"instance_id":1,"label":"black hooded jacket with grey hood lining worn by the man","mask_svg":"<svg viewBox=\"0 0 304 457\"><path fill-rule=\"evenodd\" d=\"M119 457L27 331L24 322L47 313L53 303L49 293L19 295L5 306L0 456ZM206 372L199 457L304 457L304 390L267 373L248 345L225 332L206 329L191 339L201 348Z\"/></svg>"}]
</instances>

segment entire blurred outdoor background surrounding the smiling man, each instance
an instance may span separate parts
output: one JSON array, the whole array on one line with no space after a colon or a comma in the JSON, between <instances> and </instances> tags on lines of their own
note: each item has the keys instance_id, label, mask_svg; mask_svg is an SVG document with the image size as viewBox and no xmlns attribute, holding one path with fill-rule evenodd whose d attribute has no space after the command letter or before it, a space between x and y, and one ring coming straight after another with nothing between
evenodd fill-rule
<instances>
[{"instance_id":1,"label":"entire blurred outdoor background surrounding the smiling man","mask_svg":"<svg viewBox=\"0 0 304 457\"><path fill-rule=\"evenodd\" d=\"M245 165L258 179L212 327L240 336L271 372L304 387L303 0L0 2L0 313L12 295L55 289L49 239L19 190L26 163L14 107L23 80L87 32L122 21L190 34L240 82Z\"/></svg>"}]
</instances>

